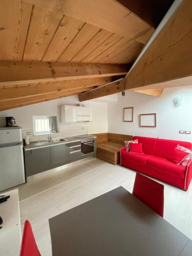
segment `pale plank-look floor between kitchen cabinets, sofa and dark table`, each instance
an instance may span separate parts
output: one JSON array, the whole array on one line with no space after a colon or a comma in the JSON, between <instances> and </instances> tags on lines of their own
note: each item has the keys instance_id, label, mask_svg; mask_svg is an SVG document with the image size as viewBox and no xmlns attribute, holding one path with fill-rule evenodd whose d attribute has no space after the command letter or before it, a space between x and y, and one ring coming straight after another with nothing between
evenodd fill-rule
<instances>
[{"instance_id":1,"label":"pale plank-look floor between kitchen cabinets, sofa and dark table","mask_svg":"<svg viewBox=\"0 0 192 256\"><path fill-rule=\"evenodd\" d=\"M26 219L31 222L41 255L52 255L49 218L118 186L132 193L135 175L133 170L89 158L20 185L22 222ZM164 186L164 219L192 239L192 186L187 192L168 184Z\"/></svg>"}]
</instances>

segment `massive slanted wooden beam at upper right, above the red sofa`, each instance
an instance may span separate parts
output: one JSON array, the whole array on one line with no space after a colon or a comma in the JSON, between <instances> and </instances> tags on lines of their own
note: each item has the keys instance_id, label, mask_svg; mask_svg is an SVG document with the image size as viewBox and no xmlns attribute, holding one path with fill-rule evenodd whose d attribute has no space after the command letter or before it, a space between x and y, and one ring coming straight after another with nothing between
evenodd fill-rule
<instances>
[{"instance_id":1,"label":"massive slanted wooden beam at upper right, above the red sofa","mask_svg":"<svg viewBox=\"0 0 192 256\"><path fill-rule=\"evenodd\" d=\"M154 33L151 44L146 45L129 71L126 90L192 84L191 13L190 0L180 1L175 9L170 8L161 30L156 36Z\"/></svg>"}]
</instances>

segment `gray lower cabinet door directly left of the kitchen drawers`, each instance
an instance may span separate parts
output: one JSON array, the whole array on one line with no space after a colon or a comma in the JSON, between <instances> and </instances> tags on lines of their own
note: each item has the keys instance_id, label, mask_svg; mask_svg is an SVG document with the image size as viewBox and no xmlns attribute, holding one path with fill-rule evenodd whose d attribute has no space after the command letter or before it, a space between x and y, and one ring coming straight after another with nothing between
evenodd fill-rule
<instances>
[{"instance_id":1,"label":"gray lower cabinet door directly left of the kitchen drawers","mask_svg":"<svg viewBox=\"0 0 192 256\"><path fill-rule=\"evenodd\" d=\"M69 144L61 144L51 146L51 167L70 163L70 147Z\"/></svg>"}]
</instances>

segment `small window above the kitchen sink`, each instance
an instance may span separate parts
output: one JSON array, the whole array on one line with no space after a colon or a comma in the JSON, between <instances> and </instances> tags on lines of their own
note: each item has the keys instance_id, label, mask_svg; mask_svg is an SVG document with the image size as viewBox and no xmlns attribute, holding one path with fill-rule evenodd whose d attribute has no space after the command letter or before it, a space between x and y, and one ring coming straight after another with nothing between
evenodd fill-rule
<instances>
[{"instance_id":1,"label":"small window above the kitchen sink","mask_svg":"<svg viewBox=\"0 0 192 256\"><path fill-rule=\"evenodd\" d=\"M56 116L33 116L33 135L49 134L58 132Z\"/></svg>"}]
</instances>

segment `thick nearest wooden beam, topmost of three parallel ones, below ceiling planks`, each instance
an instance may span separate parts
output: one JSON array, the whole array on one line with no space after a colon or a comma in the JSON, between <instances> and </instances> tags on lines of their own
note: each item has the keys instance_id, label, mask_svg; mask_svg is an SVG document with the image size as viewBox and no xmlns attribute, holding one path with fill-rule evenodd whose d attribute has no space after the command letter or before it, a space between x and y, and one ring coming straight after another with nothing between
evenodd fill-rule
<instances>
[{"instance_id":1,"label":"thick nearest wooden beam, topmost of three parallel ones, below ceiling planks","mask_svg":"<svg viewBox=\"0 0 192 256\"><path fill-rule=\"evenodd\" d=\"M1 87L7 84L125 75L129 67L119 64L0 61L0 70Z\"/></svg>"}]
</instances>

